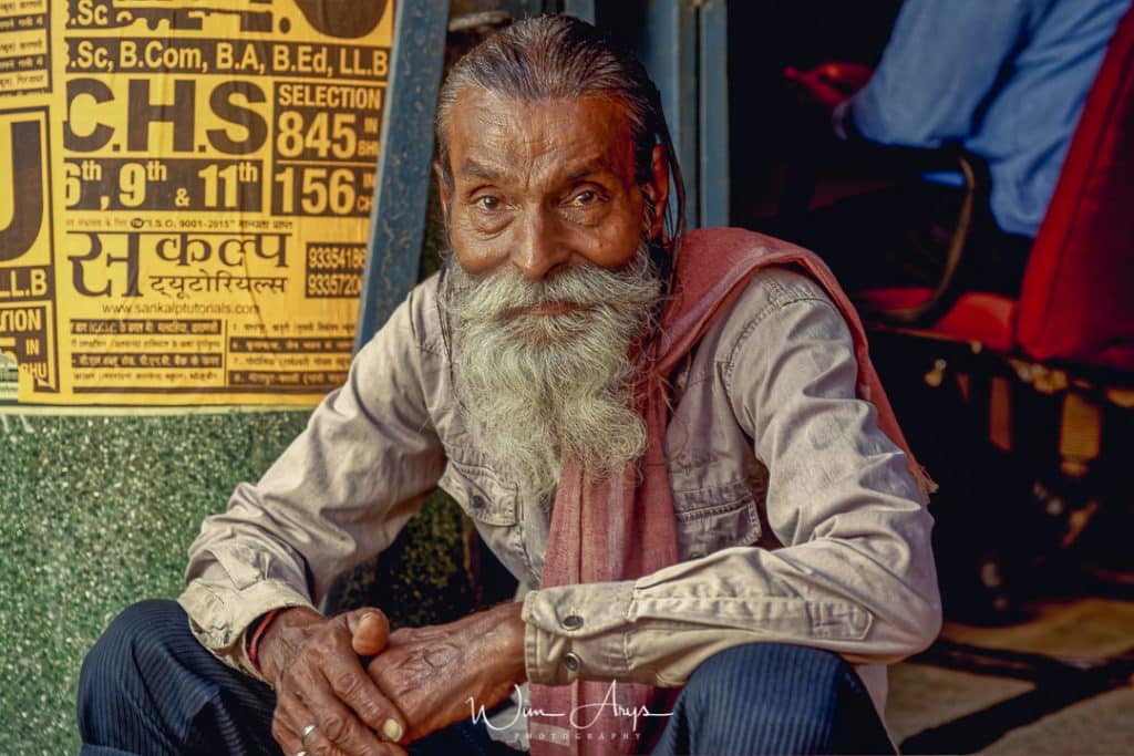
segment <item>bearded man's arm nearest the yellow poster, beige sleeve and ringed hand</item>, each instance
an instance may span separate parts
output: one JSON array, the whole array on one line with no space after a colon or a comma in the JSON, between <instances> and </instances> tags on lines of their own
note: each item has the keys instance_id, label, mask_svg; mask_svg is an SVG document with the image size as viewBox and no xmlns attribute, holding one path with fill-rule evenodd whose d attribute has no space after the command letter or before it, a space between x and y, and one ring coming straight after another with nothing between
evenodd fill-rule
<instances>
[{"instance_id":1,"label":"bearded man's arm nearest the yellow poster, beige sleeve and ringed hand","mask_svg":"<svg viewBox=\"0 0 1134 756\"><path fill-rule=\"evenodd\" d=\"M191 547L180 603L201 643L276 688L272 733L288 753L399 753L407 723L366 674L381 652L378 609L329 619L315 610L342 571L381 552L434 490L445 462L423 391L420 287L352 364L346 384L228 510L210 517ZM428 364L428 367L426 367ZM248 628L272 615L248 657ZM371 617L366 617L370 614ZM302 738L307 725L316 725Z\"/></svg>"}]
</instances>

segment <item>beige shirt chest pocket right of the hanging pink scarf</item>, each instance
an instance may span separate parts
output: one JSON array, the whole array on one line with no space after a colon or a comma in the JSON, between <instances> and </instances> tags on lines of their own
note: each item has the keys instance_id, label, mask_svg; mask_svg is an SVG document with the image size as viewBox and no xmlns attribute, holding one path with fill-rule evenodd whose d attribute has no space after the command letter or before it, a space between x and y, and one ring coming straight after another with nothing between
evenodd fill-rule
<instances>
[{"instance_id":1,"label":"beige shirt chest pocket right of the hanging pink scarf","mask_svg":"<svg viewBox=\"0 0 1134 756\"><path fill-rule=\"evenodd\" d=\"M674 493L677 547L683 560L760 540L752 491L741 482Z\"/></svg>"}]
</instances>

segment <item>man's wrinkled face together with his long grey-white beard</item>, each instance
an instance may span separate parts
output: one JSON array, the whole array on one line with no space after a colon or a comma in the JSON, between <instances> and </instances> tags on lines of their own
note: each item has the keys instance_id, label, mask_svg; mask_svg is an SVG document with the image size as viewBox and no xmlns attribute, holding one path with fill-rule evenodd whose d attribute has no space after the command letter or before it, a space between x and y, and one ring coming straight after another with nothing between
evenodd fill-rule
<instances>
[{"instance_id":1,"label":"man's wrinkled face together with his long grey-white beard","mask_svg":"<svg viewBox=\"0 0 1134 756\"><path fill-rule=\"evenodd\" d=\"M565 456L620 472L645 448L628 355L661 297L645 241L660 233L667 165L635 181L621 108L523 104L480 90L451 111L455 265L440 304L455 374L498 472L547 499ZM658 178L660 176L660 178ZM443 181L442 181L443 186Z\"/></svg>"}]
</instances>

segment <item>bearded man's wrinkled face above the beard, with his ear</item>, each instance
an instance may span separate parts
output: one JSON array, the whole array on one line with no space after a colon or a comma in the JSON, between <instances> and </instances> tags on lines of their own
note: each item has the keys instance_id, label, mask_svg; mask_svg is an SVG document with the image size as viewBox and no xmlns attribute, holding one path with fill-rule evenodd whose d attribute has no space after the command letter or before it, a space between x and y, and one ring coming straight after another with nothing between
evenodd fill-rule
<instances>
[{"instance_id":1,"label":"bearded man's wrinkled face above the beard, with his ear","mask_svg":"<svg viewBox=\"0 0 1134 756\"><path fill-rule=\"evenodd\" d=\"M466 87L451 110L449 160L454 186L442 181L441 199L452 250L472 275L515 267L541 280L586 262L619 270L643 235L660 232L661 150L652 180L640 187L629 124L616 101L524 103ZM659 209L645 228L643 193Z\"/></svg>"}]
</instances>

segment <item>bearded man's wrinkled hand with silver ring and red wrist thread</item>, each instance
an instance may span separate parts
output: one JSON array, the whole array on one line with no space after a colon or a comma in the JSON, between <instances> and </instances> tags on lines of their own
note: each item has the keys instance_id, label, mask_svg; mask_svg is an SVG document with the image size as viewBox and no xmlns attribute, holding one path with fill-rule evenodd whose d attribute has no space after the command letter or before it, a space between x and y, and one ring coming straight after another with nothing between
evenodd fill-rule
<instances>
[{"instance_id":1,"label":"bearded man's wrinkled hand with silver ring and red wrist thread","mask_svg":"<svg viewBox=\"0 0 1134 756\"><path fill-rule=\"evenodd\" d=\"M380 653L389 635L376 609L327 619L299 606L272 621L259 661L276 688L272 737L285 754L405 754L395 745L406 731L405 717L359 659ZM308 724L315 730L301 738Z\"/></svg>"}]
</instances>

